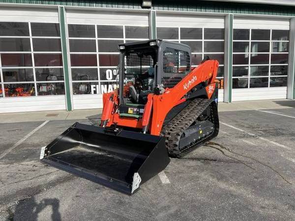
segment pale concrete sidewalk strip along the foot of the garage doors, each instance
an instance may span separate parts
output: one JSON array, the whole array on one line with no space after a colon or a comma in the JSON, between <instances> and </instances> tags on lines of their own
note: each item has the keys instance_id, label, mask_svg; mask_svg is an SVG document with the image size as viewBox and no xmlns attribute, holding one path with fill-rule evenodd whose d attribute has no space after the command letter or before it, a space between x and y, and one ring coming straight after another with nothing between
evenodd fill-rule
<instances>
[{"instance_id":1,"label":"pale concrete sidewalk strip along the foot of the garage doors","mask_svg":"<svg viewBox=\"0 0 295 221\"><path fill-rule=\"evenodd\" d=\"M295 108L292 100L264 100L240 101L234 103L219 103L218 111L250 111L266 109ZM0 123L31 122L45 120L78 120L97 118L102 109L75 110L75 111L35 111L21 113L0 113Z\"/></svg>"}]
</instances>

